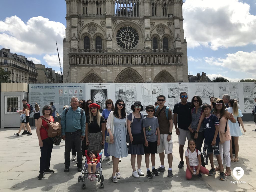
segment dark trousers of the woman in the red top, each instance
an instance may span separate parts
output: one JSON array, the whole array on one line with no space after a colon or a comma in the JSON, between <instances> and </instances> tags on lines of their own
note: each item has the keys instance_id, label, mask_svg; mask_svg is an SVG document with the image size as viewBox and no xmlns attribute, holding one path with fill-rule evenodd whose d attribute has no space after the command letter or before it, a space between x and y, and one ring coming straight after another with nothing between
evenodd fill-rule
<instances>
[{"instance_id":1,"label":"dark trousers of the woman in the red top","mask_svg":"<svg viewBox=\"0 0 256 192\"><path fill-rule=\"evenodd\" d=\"M51 151L53 147L53 142L48 138L42 140L43 146L40 147L41 157L40 157L40 171L39 173L44 173L45 169L50 168L51 161Z\"/></svg>"}]
</instances>

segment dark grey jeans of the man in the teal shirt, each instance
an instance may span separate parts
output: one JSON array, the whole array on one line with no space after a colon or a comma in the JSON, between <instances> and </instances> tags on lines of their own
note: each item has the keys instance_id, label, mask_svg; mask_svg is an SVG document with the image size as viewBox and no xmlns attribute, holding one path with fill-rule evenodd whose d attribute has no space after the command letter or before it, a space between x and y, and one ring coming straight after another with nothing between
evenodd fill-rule
<instances>
[{"instance_id":1,"label":"dark grey jeans of the man in the teal shirt","mask_svg":"<svg viewBox=\"0 0 256 192\"><path fill-rule=\"evenodd\" d=\"M81 130L76 132L66 132L65 138L65 167L70 166L70 152L72 149L73 144L75 145L76 152L77 152L77 165L82 165L82 143L81 143Z\"/></svg>"}]
</instances>

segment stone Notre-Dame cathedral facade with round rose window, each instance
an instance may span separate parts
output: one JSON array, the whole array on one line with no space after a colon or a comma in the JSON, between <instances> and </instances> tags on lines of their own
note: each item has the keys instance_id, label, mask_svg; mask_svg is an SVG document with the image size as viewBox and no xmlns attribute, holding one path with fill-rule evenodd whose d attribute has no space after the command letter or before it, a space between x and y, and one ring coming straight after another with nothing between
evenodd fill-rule
<instances>
[{"instance_id":1,"label":"stone Notre-Dame cathedral facade with round rose window","mask_svg":"<svg viewBox=\"0 0 256 192\"><path fill-rule=\"evenodd\" d=\"M182 0L66 0L64 82L188 82Z\"/></svg>"}]
</instances>

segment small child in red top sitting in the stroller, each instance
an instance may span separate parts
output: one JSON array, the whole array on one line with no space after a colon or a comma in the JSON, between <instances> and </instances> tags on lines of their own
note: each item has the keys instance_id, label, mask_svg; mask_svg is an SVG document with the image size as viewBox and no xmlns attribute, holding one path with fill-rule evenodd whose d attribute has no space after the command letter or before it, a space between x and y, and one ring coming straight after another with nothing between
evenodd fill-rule
<instances>
[{"instance_id":1,"label":"small child in red top sitting in the stroller","mask_svg":"<svg viewBox=\"0 0 256 192\"><path fill-rule=\"evenodd\" d=\"M87 151L87 159L88 164L88 180L94 181L96 179L95 172L96 166L100 162L99 154L96 153L95 150Z\"/></svg>"}]
</instances>

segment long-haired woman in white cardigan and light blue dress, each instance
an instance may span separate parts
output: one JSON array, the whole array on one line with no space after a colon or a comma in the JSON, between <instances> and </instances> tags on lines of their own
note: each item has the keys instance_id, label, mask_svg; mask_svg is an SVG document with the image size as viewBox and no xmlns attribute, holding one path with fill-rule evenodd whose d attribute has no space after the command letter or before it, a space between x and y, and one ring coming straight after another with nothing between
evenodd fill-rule
<instances>
[{"instance_id":1,"label":"long-haired woman in white cardigan and light blue dress","mask_svg":"<svg viewBox=\"0 0 256 192\"><path fill-rule=\"evenodd\" d=\"M111 111L106 124L110 143L108 144L107 153L112 156L113 173L111 179L114 183L118 182L121 174L118 169L119 158L128 155L126 146L126 119L125 104L122 99L118 99L115 103L114 111Z\"/></svg>"}]
</instances>

